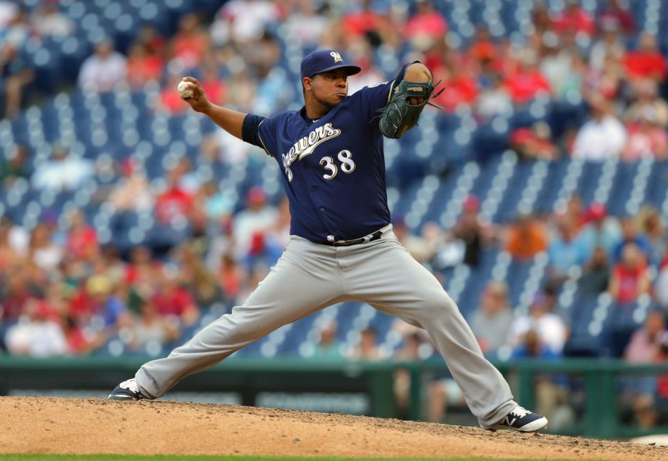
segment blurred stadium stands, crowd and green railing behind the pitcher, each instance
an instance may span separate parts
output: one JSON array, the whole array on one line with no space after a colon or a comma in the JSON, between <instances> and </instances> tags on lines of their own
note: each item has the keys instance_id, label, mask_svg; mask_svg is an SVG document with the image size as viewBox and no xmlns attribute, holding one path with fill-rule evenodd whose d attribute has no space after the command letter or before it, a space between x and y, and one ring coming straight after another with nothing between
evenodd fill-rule
<instances>
[{"instance_id":1,"label":"blurred stadium stands, crowd and green railing behind the pitcher","mask_svg":"<svg viewBox=\"0 0 668 461\"><path fill-rule=\"evenodd\" d=\"M281 172L176 85L298 110L318 48L362 67L350 92L415 59L440 81L445 110L385 140L395 232L523 405L555 432L666 428L660 0L0 0L0 392L104 396L244 302L289 241ZM475 423L426 334L368 305L225 366L177 390Z\"/></svg>"}]
</instances>

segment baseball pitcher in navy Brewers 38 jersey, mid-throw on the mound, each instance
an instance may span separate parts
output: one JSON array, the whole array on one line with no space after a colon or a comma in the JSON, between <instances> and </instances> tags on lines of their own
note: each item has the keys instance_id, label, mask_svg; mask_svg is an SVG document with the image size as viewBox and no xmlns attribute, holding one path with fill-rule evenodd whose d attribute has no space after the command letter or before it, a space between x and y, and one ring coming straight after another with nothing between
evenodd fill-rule
<instances>
[{"instance_id":1,"label":"baseball pitcher in navy Brewers 38 jersey, mid-throw on the mound","mask_svg":"<svg viewBox=\"0 0 668 461\"><path fill-rule=\"evenodd\" d=\"M164 396L187 375L282 325L337 302L360 301L427 330L480 426L525 432L547 426L545 417L513 401L454 301L392 233L383 136L400 138L417 123L434 91L431 72L415 62L396 79L349 96L347 78L357 72L336 51L312 52L301 62L303 108L272 118L216 106L196 79L183 79L182 98L194 111L278 161L292 236L243 305L168 357L143 365L110 399Z\"/></svg>"}]
</instances>

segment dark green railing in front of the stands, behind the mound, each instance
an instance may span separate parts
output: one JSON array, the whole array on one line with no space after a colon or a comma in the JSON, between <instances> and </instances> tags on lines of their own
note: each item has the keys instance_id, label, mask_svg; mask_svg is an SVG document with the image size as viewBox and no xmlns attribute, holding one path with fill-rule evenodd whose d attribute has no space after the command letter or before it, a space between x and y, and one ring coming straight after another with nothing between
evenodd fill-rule
<instances>
[{"instance_id":1,"label":"dark green railing in front of the stands, behind the mound","mask_svg":"<svg viewBox=\"0 0 668 461\"><path fill-rule=\"evenodd\" d=\"M67 389L76 394L84 390L109 390L114 384L134 375L145 360L141 357L61 357L33 359L0 357L0 395L47 394L54 389ZM580 394L576 408L578 418L572 426L552 430L562 435L582 435L610 439L627 439L641 435L668 432L668 427L639 428L621 421L624 380L658 378L668 375L668 363L630 365L619 359L521 360L497 362L495 366L508 378L516 399L526 407L536 405L536 378L552 377L566 383L569 390ZM395 373L408 371L411 377L409 407L404 417L424 420L427 385L434 376L447 378L442 360L426 362L321 362L305 359L228 359L203 373L189 376L175 387L179 392L236 393L237 403L257 405L259 396L309 395L293 399L303 409L337 411L331 403L318 406L318 398L336 396L349 407L342 412L381 417L397 417L394 398ZM627 383L628 385L628 383ZM67 395L61 393L60 395ZM90 394L88 394L90 395ZM187 395L187 394L186 394ZM194 395L194 394L193 394ZM360 396L363 398L360 400ZM264 399L265 406L280 398ZM267 405L269 402L269 405ZM285 402L285 399L283 399ZM310 403L309 403L310 402ZM353 402L360 403L353 405ZM311 405L309 407L309 405ZM280 406L276 404L275 406ZM578 404L575 405L576 407ZM470 420L472 423L473 419Z\"/></svg>"}]
</instances>

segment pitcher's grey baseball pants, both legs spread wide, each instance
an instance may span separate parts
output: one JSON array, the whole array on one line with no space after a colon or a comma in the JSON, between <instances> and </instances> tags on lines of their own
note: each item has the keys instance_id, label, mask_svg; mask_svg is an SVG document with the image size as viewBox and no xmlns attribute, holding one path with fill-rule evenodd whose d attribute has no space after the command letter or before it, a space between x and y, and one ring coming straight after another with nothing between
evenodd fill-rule
<instances>
[{"instance_id":1,"label":"pitcher's grey baseball pants, both legs spread wide","mask_svg":"<svg viewBox=\"0 0 668 461\"><path fill-rule=\"evenodd\" d=\"M482 427L514 409L510 388L482 355L459 308L434 275L387 226L376 241L347 247L292 236L283 256L243 305L213 321L164 359L136 373L141 393L164 396L177 382L208 369L276 328L344 301L367 302L427 330Z\"/></svg>"}]
</instances>

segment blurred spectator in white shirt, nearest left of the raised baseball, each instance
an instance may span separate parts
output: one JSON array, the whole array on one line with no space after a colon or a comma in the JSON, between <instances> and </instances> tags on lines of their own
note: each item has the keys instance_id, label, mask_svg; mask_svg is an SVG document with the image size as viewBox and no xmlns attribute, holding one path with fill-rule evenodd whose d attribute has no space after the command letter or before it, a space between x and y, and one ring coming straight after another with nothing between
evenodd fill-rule
<instances>
[{"instance_id":1,"label":"blurred spectator in white shirt, nearest left of the raised baseball","mask_svg":"<svg viewBox=\"0 0 668 461\"><path fill-rule=\"evenodd\" d=\"M125 80L125 56L114 51L109 40L95 47L95 54L88 56L79 71L79 87L82 90L107 92Z\"/></svg>"}]
</instances>

